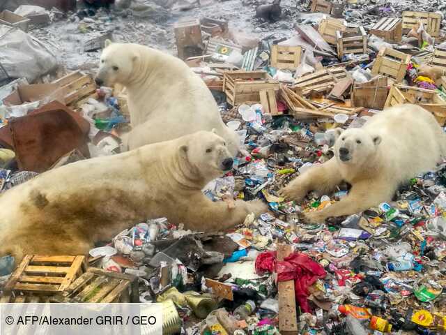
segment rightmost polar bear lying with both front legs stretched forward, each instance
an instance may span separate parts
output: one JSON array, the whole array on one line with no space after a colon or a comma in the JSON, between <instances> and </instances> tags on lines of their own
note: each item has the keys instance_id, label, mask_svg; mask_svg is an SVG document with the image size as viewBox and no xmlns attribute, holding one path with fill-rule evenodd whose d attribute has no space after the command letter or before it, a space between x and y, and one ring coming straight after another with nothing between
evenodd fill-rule
<instances>
[{"instance_id":1,"label":"rightmost polar bear lying with both front legs stretched forward","mask_svg":"<svg viewBox=\"0 0 446 335\"><path fill-rule=\"evenodd\" d=\"M401 183L436 168L446 154L446 135L433 115L417 105L399 105L371 117L362 128L341 133L330 161L310 168L280 192L302 200L309 191L326 194L352 185L346 198L307 214L320 223L392 200Z\"/></svg>"}]
</instances>

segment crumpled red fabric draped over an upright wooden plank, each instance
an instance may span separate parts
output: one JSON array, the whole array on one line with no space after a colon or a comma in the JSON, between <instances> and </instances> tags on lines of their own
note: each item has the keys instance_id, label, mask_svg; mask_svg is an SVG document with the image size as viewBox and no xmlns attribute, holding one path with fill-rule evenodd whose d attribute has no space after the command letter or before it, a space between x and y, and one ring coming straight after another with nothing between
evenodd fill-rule
<instances>
[{"instance_id":1,"label":"crumpled red fabric draped over an upright wooden plank","mask_svg":"<svg viewBox=\"0 0 446 335\"><path fill-rule=\"evenodd\" d=\"M256 258L256 271L261 274L265 271L277 271L277 281L294 280L295 299L304 313L312 313L307 297L308 288L318 279L326 275L323 267L314 262L305 253L291 253L282 262L276 261L276 253L268 251Z\"/></svg>"}]
</instances>

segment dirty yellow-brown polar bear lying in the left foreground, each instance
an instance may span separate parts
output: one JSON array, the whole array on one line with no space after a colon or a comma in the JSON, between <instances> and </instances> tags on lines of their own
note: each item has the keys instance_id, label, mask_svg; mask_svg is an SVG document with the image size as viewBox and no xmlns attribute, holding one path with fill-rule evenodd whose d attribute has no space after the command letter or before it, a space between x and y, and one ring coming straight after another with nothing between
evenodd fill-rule
<instances>
[{"instance_id":1,"label":"dirty yellow-brown polar bear lying in the left foreground","mask_svg":"<svg viewBox=\"0 0 446 335\"><path fill-rule=\"evenodd\" d=\"M228 208L201 193L232 167L224 139L200 131L49 170L0 196L0 255L80 255L148 218L199 231L233 227L268 207L237 200Z\"/></svg>"}]
</instances>

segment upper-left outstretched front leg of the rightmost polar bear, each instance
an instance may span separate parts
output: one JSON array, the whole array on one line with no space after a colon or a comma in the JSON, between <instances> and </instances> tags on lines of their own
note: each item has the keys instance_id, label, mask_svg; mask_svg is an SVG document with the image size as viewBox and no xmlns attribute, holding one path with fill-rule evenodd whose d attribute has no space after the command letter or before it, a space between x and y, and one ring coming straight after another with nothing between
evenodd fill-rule
<instances>
[{"instance_id":1,"label":"upper-left outstretched front leg of the rightmost polar bear","mask_svg":"<svg viewBox=\"0 0 446 335\"><path fill-rule=\"evenodd\" d=\"M330 193L342 181L335 158L321 165L309 168L299 177L282 188L280 194L290 200L300 201L309 191L321 194Z\"/></svg>"}]
</instances>

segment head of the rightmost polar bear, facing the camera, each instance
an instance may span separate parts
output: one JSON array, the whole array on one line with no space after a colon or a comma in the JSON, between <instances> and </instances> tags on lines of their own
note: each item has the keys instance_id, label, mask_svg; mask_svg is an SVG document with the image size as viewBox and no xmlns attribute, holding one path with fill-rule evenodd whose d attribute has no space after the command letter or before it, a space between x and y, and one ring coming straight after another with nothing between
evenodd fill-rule
<instances>
[{"instance_id":1,"label":"head of the rightmost polar bear, facing the camera","mask_svg":"<svg viewBox=\"0 0 446 335\"><path fill-rule=\"evenodd\" d=\"M376 153L380 142L379 135L371 135L361 128L348 129L334 144L334 155L339 163L362 166Z\"/></svg>"}]
</instances>

